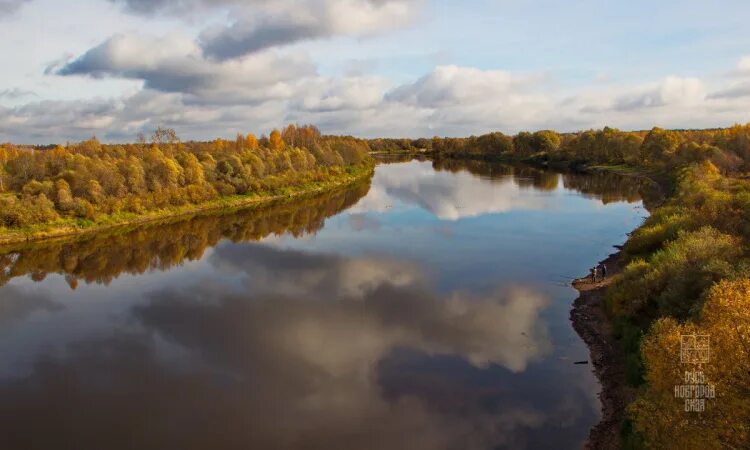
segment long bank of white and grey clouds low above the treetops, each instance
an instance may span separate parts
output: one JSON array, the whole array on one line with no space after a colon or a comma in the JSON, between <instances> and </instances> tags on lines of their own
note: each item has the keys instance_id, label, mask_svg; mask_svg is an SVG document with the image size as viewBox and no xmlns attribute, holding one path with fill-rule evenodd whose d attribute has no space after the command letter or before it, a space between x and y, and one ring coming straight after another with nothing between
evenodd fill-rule
<instances>
[{"instance_id":1,"label":"long bank of white and grey clouds low above the treetops","mask_svg":"<svg viewBox=\"0 0 750 450\"><path fill-rule=\"evenodd\" d=\"M178 35L118 35L50 70L142 80L144 89L115 99L0 106L0 140L48 143L91 133L129 140L157 125L172 126L184 138L210 139L267 132L288 122L363 137L604 125L706 127L747 120L750 109L747 81L736 76L667 77L636 87L583 87L571 94L539 73L438 66L394 85L379 76L322 76L307 56L294 51L214 61L202 56L197 43ZM93 117L97 112L100 117Z\"/></svg>"}]
</instances>

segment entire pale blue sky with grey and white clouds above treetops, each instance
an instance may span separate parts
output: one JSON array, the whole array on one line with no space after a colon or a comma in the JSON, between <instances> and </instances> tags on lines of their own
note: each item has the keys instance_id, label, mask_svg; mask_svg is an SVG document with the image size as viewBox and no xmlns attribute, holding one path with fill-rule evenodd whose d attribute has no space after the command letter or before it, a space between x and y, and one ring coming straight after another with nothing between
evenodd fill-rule
<instances>
[{"instance_id":1,"label":"entire pale blue sky with grey and white clouds above treetops","mask_svg":"<svg viewBox=\"0 0 750 450\"><path fill-rule=\"evenodd\" d=\"M0 0L0 142L750 122L746 0Z\"/></svg>"}]
</instances>

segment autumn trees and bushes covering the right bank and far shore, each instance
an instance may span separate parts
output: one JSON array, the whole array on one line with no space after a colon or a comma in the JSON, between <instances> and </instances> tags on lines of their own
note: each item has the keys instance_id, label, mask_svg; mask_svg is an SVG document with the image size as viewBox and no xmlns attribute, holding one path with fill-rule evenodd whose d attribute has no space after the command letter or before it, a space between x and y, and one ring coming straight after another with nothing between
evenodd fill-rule
<instances>
[{"instance_id":1,"label":"autumn trees and bushes covering the right bank and far shore","mask_svg":"<svg viewBox=\"0 0 750 450\"><path fill-rule=\"evenodd\" d=\"M580 297L571 319L602 385L602 421L587 447L750 448L750 124L369 144L377 153L519 161L655 181L663 199L644 199L651 215L605 260L611 276L574 283ZM710 336L708 363L681 364L683 335ZM676 396L686 384L711 386L715 397Z\"/></svg>"}]
</instances>

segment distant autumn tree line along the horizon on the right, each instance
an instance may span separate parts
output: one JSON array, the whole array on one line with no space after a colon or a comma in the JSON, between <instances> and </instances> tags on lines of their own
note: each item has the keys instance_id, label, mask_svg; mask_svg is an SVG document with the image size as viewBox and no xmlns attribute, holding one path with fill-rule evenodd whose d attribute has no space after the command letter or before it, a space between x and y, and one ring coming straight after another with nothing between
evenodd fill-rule
<instances>
[{"instance_id":1,"label":"distant autumn tree line along the horizon on the right","mask_svg":"<svg viewBox=\"0 0 750 450\"><path fill-rule=\"evenodd\" d=\"M750 124L711 130L620 131L605 127L576 133L493 132L465 138L372 139L377 152L424 152L442 157L533 158L567 163L629 164L670 171L710 160L723 171L750 169Z\"/></svg>"}]
</instances>

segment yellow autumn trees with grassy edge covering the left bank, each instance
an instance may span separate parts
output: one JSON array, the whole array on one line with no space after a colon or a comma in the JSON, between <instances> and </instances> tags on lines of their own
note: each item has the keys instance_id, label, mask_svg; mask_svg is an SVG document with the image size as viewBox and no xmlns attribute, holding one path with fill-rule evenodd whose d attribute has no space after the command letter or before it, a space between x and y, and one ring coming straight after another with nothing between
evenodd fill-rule
<instances>
[{"instance_id":1,"label":"yellow autumn trees with grassy edge covering the left bank","mask_svg":"<svg viewBox=\"0 0 750 450\"><path fill-rule=\"evenodd\" d=\"M150 143L95 138L51 148L0 146L0 244L299 197L371 176L367 144L290 125L270 137Z\"/></svg>"}]
</instances>

